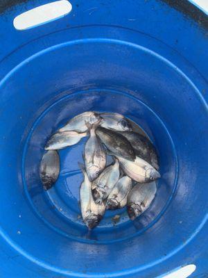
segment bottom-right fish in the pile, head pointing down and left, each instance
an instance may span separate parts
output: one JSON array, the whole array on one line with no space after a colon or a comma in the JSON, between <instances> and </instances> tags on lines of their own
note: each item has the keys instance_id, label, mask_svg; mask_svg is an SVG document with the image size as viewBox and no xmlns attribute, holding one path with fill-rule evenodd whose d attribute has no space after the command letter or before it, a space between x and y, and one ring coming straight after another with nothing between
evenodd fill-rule
<instances>
[{"instance_id":1,"label":"bottom-right fish in the pile, head pointing down and left","mask_svg":"<svg viewBox=\"0 0 208 278\"><path fill-rule=\"evenodd\" d=\"M127 211L130 220L144 213L155 198L157 187L155 182L137 183L132 188L127 198Z\"/></svg>"}]
</instances>

